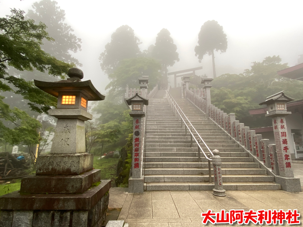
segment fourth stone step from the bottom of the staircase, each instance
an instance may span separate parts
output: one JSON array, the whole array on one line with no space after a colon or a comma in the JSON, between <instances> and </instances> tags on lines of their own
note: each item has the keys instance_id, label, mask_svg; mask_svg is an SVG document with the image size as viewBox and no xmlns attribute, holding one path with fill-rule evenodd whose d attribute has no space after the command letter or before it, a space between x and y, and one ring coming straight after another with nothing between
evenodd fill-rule
<instances>
[{"instance_id":1,"label":"fourth stone step from the bottom of the staircase","mask_svg":"<svg viewBox=\"0 0 303 227\"><path fill-rule=\"evenodd\" d=\"M221 164L221 168L259 167L260 164L254 162L222 162ZM208 162L145 162L145 168L208 168Z\"/></svg>"}]
</instances>

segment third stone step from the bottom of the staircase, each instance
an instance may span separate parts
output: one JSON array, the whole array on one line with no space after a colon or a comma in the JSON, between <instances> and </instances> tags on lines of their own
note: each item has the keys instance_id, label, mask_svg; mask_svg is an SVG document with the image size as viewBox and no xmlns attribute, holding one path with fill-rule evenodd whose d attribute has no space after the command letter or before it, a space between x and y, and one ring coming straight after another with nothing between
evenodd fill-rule
<instances>
[{"instance_id":1,"label":"third stone step from the bottom of the staircase","mask_svg":"<svg viewBox=\"0 0 303 227\"><path fill-rule=\"evenodd\" d=\"M222 174L228 175L256 175L256 174L266 174L266 169L260 168L222 168ZM145 175L208 175L208 168L145 168ZM213 169L211 169L211 174L214 174Z\"/></svg>"}]
</instances>

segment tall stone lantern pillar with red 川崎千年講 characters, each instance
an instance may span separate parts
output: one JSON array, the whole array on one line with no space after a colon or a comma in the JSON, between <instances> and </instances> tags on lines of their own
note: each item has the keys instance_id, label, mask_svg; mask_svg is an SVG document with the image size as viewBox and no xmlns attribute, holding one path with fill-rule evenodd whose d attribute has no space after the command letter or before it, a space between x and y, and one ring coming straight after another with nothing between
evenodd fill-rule
<instances>
[{"instance_id":1,"label":"tall stone lantern pillar with red \u5ddd\u5d0e\u5343\u5e74\u8b1b characters","mask_svg":"<svg viewBox=\"0 0 303 227\"><path fill-rule=\"evenodd\" d=\"M292 170L291 153L289 150L289 143L291 140L288 139L287 125L285 116L291 114L286 109L286 103L294 99L287 97L283 91L271 95L259 105L266 105L268 114L266 117L271 117L272 126L274 130L276 153L278 159L278 168L280 176L276 176L276 183L281 184L281 189L288 192L301 191L300 179L294 178ZM262 150L263 155L265 149ZM266 155L266 154L265 154ZM268 157L264 157L266 160Z\"/></svg>"}]
</instances>

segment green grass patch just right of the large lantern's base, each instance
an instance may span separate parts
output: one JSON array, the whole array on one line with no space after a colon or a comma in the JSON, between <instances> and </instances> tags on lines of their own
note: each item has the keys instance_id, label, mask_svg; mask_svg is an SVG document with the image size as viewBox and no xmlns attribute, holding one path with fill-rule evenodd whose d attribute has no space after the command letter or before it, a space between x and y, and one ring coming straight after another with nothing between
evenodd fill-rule
<instances>
[{"instance_id":1,"label":"green grass patch just right of the large lantern's base","mask_svg":"<svg viewBox=\"0 0 303 227\"><path fill-rule=\"evenodd\" d=\"M101 169L101 179L114 180L117 174L118 158L99 159L100 156L94 156L94 168Z\"/></svg>"}]
</instances>

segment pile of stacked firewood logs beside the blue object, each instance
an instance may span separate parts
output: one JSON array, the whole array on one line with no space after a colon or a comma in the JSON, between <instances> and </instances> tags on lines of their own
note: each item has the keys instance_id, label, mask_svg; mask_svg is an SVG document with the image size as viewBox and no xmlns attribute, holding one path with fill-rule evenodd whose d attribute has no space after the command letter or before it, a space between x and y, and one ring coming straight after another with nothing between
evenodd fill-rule
<instances>
[{"instance_id":1,"label":"pile of stacked firewood logs beside the blue object","mask_svg":"<svg viewBox=\"0 0 303 227\"><path fill-rule=\"evenodd\" d=\"M0 179L26 175L30 166L25 160L18 160L8 152L0 152Z\"/></svg>"}]
</instances>

